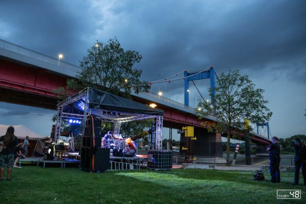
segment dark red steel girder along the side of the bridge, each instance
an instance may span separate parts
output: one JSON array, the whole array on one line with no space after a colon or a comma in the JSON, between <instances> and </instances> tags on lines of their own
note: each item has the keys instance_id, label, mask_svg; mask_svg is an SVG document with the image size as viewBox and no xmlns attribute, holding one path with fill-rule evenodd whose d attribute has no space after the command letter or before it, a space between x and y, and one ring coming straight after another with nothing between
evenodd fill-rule
<instances>
[{"instance_id":1,"label":"dark red steel girder along the side of the bridge","mask_svg":"<svg viewBox=\"0 0 306 204\"><path fill-rule=\"evenodd\" d=\"M23 94L22 97L33 98L32 103L35 103L35 100L45 100L43 105L38 103L32 106L56 109L57 96L52 90L58 89L59 87L66 87L68 78L69 77L66 75L60 75L59 73L54 73L40 67L0 57L0 90L6 92L6 95L9 94L6 89L13 89L14 91L12 92L15 94L18 93L18 91L19 93L26 92L28 95ZM74 93L75 92L70 91L70 94ZM39 97L37 97L37 95L39 95ZM7 98L6 96L0 96L0 100L31 106L31 100L28 99L27 103L22 103L22 97L13 99ZM47 103L47 98L53 99ZM142 104L150 103L150 101L138 97L133 97L133 100ZM213 123L211 120L199 120L194 114L182 112L170 107L160 105L158 108L164 111L164 120L166 122L170 122L171 124L176 123L178 127L192 125L205 128L201 125L202 122L209 121ZM250 138L254 142L269 144L268 141L259 137L251 136Z\"/></svg>"}]
</instances>

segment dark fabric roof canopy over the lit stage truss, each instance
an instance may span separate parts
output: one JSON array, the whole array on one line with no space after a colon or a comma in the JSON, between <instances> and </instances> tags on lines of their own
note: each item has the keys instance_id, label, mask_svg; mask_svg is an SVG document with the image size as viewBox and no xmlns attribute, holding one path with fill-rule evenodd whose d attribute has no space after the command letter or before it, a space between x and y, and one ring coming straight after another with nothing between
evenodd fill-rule
<instances>
[{"instance_id":1,"label":"dark fabric roof canopy over the lit stage truss","mask_svg":"<svg viewBox=\"0 0 306 204\"><path fill-rule=\"evenodd\" d=\"M163 116L164 114L162 110L154 109L133 100L89 87L66 98L58 104L63 107L63 116L84 115L86 98L87 112L90 111L91 115L105 118L112 122L117 122L118 119L128 119L135 116Z\"/></svg>"}]
</instances>

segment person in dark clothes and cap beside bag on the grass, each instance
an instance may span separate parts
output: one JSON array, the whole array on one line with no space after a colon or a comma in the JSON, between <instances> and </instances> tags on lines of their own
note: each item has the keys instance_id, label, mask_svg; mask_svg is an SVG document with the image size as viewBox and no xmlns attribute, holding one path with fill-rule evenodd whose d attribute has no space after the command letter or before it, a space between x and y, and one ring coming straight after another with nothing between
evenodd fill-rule
<instances>
[{"instance_id":1,"label":"person in dark clothes and cap beside bag on the grass","mask_svg":"<svg viewBox=\"0 0 306 204\"><path fill-rule=\"evenodd\" d=\"M278 137L272 137L272 144L267 148L267 151L270 152L270 173L271 173L271 182L279 183L281 182L281 174L279 173L279 162L281 162L281 157L279 157L279 152L281 147L278 144Z\"/></svg>"}]
</instances>

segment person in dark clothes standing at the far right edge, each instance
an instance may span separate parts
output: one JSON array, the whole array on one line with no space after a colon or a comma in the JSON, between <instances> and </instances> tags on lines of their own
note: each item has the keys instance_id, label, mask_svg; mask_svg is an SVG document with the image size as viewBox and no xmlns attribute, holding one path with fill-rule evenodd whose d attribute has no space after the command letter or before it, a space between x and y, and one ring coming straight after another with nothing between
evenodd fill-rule
<instances>
[{"instance_id":1,"label":"person in dark clothes standing at the far right edge","mask_svg":"<svg viewBox=\"0 0 306 204\"><path fill-rule=\"evenodd\" d=\"M294 173L294 183L293 186L298 185L299 180L299 170L302 167L302 175L304 179L304 185L306 185L306 169L305 169L305 155L304 155L304 147L301 143L299 138L294 140L294 147L295 147L295 157L294 157L294 166L295 166L295 173Z\"/></svg>"}]
</instances>

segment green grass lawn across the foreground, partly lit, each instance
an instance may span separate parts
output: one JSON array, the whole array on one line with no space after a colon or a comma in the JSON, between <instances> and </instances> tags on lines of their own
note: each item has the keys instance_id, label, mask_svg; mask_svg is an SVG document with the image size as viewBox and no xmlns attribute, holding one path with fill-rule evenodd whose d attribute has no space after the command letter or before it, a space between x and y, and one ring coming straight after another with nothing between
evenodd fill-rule
<instances>
[{"instance_id":1,"label":"green grass lawn across the foreground, partly lit","mask_svg":"<svg viewBox=\"0 0 306 204\"><path fill-rule=\"evenodd\" d=\"M25 165L13 169L12 181L0 181L0 203L306 202L306 186L291 186L293 172L282 172L278 184L253 181L253 173L199 169L88 173ZM269 172L265 177L269 179ZM277 189L300 189L302 199L277 200Z\"/></svg>"}]
</instances>

